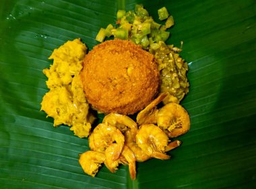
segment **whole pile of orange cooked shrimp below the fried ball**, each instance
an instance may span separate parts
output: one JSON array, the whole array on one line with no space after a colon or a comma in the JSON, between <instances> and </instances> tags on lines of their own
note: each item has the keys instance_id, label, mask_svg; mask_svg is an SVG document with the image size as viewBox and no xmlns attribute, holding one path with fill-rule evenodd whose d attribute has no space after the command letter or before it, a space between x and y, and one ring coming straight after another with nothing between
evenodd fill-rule
<instances>
[{"instance_id":1,"label":"whole pile of orange cooked shrimp below the fried ball","mask_svg":"<svg viewBox=\"0 0 256 189\"><path fill-rule=\"evenodd\" d=\"M187 133L190 119L187 111L177 103L167 103L158 109L157 105L166 95L160 94L140 111L136 122L127 115L106 115L89 136L91 150L79 157L84 172L94 177L104 164L114 173L119 164L123 164L129 166L130 177L135 180L135 162L145 162L152 157L170 159L166 152L181 145L181 141L170 141L170 138Z\"/></svg>"}]
</instances>

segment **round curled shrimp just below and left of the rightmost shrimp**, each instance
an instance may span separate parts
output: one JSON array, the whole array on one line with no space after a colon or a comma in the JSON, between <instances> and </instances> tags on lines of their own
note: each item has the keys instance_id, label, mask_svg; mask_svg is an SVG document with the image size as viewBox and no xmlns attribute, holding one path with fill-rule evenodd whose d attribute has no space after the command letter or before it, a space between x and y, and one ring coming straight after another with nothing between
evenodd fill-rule
<instances>
[{"instance_id":1,"label":"round curled shrimp just below and left of the rightmost shrimp","mask_svg":"<svg viewBox=\"0 0 256 189\"><path fill-rule=\"evenodd\" d=\"M140 126L136 135L136 143L150 157L160 160L170 159L170 156L165 153L168 145L168 136L160 127L154 124Z\"/></svg>"}]
</instances>

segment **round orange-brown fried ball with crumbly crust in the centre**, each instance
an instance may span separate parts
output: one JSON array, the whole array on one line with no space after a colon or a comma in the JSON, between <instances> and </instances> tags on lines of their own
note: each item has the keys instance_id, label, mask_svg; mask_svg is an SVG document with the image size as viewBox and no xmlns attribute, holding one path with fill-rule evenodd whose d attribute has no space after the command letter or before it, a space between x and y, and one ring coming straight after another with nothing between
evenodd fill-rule
<instances>
[{"instance_id":1,"label":"round orange-brown fried ball with crumbly crust in the centre","mask_svg":"<svg viewBox=\"0 0 256 189\"><path fill-rule=\"evenodd\" d=\"M130 115L155 97L160 77L154 56L128 40L108 40L84 59L84 91L103 113Z\"/></svg>"}]
</instances>

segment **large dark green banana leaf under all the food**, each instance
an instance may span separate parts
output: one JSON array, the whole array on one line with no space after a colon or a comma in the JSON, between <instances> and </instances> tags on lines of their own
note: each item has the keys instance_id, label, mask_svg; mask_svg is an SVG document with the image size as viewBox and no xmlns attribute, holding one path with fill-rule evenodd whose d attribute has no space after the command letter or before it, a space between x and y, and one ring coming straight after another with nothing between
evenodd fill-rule
<instances>
[{"instance_id":1,"label":"large dark green banana leaf under all the food","mask_svg":"<svg viewBox=\"0 0 256 189\"><path fill-rule=\"evenodd\" d=\"M78 163L88 139L53 127L40 111L42 70L67 40L81 38L91 50L100 27L136 3L156 21L163 6L174 17L167 43L184 42L190 88L181 105L191 130L170 160L138 163L135 181L127 166L115 174L103 166L92 178ZM255 188L255 54L254 0L1 0L1 188Z\"/></svg>"}]
</instances>

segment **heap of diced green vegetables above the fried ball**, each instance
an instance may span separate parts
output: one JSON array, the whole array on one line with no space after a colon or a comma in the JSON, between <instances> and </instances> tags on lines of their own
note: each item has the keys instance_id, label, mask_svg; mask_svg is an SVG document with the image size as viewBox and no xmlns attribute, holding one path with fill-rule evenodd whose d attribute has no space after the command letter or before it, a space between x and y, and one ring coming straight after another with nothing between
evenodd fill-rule
<instances>
[{"instance_id":1,"label":"heap of diced green vegetables above the fried ball","mask_svg":"<svg viewBox=\"0 0 256 189\"><path fill-rule=\"evenodd\" d=\"M168 17L166 7L159 9L158 13L161 17ZM141 45L143 49L148 50L152 43L165 42L170 36L166 29L174 24L172 16L168 17L164 25L156 23L148 15L148 11L144 9L143 5L135 5L135 11L117 11L117 19L117 27L113 27L111 24L108 25L106 29L99 32L98 41L101 42L105 37L114 36L123 40L131 40L135 44Z\"/></svg>"}]
</instances>

